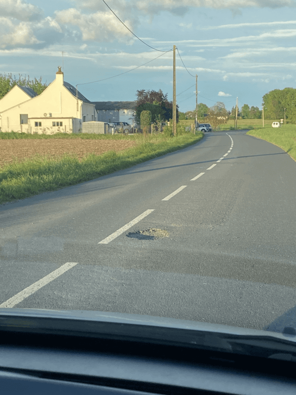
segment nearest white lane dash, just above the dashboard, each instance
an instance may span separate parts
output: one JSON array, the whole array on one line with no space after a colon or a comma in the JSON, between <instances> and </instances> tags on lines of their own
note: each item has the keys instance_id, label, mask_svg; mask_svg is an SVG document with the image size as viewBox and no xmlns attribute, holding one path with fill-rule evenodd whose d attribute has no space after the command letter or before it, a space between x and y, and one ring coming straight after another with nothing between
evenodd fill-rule
<instances>
[{"instance_id":1,"label":"nearest white lane dash, just above the dashboard","mask_svg":"<svg viewBox=\"0 0 296 395\"><path fill-rule=\"evenodd\" d=\"M28 298L28 296L35 293L38 289L44 287L44 285L48 284L50 281L61 276L62 274L67 272L67 270L72 269L77 264L78 262L65 263L65 265L61 266L59 269L54 270L53 272L49 273L49 275L34 282L34 284L30 285L29 287L23 289L21 292L12 296L12 298L6 300L6 302L0 304L0 308L10 308L17 305L18 303L22 302L24 299Z\"/></svg>"}]
</instances>

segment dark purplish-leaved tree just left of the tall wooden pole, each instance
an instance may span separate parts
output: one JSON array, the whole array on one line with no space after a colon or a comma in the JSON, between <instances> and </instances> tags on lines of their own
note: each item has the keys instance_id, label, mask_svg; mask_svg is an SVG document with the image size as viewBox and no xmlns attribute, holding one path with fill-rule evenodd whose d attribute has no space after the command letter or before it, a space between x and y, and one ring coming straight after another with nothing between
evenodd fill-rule
<instances>
[{"instance_id":1,"label":"dark purplish-leaved tree just left of the tall wooden pole","mask_svg":"<svg viewBox=\"0 0 296 395\"><path fill-rule=\"evenodd\" d=\"M155 90L137 90L137 103L134 113L134 121L135 123L140 123L141 112L146 110L143 107L144 104L151 104L148 108L148 111L151 112L151 119L152 122L155 122L155 119L158 115L161 115L163 119L170 120L173 118L173 102L168 101L167 99L168 94L164 94L161 89L158 92ZM142 106L142 107L141 107ZM153 107L155 106L155 107ZM176 118L177 122L179 120L179 111L178 105L176 106ZM147 111L147 110L146 110Z\"/></svg>"}]
</instances>

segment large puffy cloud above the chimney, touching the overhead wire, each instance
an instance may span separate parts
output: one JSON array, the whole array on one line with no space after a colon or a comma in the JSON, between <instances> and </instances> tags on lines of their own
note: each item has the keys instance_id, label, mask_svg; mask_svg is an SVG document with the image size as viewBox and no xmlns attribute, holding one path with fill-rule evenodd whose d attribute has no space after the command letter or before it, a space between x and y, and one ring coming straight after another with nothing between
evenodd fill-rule
<instances>
[{"instance_id":1,"label":"large puffy cloud above the chimney, touching the overhead wire","mask_svg":"<svg viewBox=\"0 0 296 395\"><path fill-rule=\"evenodd\" d=\"M110 12L97 11L91 14L83 14L75 8L56 11L56 21L60 25L77 26L81 32L83 41L106 41L120 40L131 43L132 34L118 21ZM123 20L123 23L133 30L130 20Z\"/></svg>"}]
</instances>

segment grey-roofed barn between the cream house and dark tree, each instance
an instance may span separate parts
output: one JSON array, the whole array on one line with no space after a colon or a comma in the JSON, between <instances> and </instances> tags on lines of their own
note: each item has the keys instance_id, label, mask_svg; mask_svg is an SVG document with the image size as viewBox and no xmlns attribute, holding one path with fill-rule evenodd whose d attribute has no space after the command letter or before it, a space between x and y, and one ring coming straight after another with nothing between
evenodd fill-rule
<instances>
[{"instance_id":1,"label":"grey-roofed barn between the cream house and dark tree","mask_svg":"<svg viewBox=\"0 0 296 395\"><path fill-rule=\"evenodd\" d=\"M132 117L137 102L93 102L93 104L96 106L99 121L133 123Z\"/></svg>"}]
</instances>

